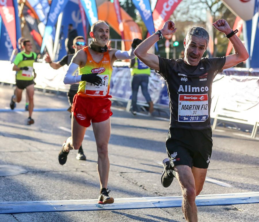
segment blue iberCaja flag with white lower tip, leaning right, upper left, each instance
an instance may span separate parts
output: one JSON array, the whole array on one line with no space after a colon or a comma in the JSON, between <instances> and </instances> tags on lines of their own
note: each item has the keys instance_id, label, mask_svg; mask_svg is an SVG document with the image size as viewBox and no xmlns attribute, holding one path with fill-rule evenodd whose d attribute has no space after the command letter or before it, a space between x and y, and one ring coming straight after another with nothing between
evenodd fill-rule
<instances>
[{"instance_id":1,"label":"blue iberCaja flag with white lower tip, leaning right, upper left","mask_svg":"<svg viewBox=\"0 0 259 222\"><path fill-rule=\"evenodd\" d=\"M44 32L43 39L42 39L41 53L43 53L43 50L47 43L47 39L53 31L53 26L56 25L58 16L59 16L60 12L62 12L64 7L66 6L67 2L68 2L68 0L52 0L50 9L49 9L48 18L47 18L47 24L45 27L45 32Z\"/></svg>"}]
</instances>

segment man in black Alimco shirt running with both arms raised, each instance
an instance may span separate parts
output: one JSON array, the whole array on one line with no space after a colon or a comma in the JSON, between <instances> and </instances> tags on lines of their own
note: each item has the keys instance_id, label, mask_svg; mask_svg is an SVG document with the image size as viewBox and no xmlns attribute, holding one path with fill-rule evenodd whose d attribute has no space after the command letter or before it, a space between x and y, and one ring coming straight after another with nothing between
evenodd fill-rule
<instances>
[{"instance_id":1,"label":"man in black Alimco shirt running with both arms raised","mask_svg":"<svg viewBox=\"0 0 259 222\"><path fill-rule=\"evenodd\" d=\"M210 123L211 88L215 75L230 68L249 55L226 20L212 24L233 44L235 53L222 58L202 58L209 34L202 27L192 27L184 39L184 58L165 59L147 51L163 36L176 32L174 22L143 41L134 51L147 66L164 79L170 100L170 129L166 139L169 158L163 160L161 183L169 187L176 177L183 194L182 211L186 221L196 222L195 197L201 192L212 151Z\"/></svg>"}]
</instances>

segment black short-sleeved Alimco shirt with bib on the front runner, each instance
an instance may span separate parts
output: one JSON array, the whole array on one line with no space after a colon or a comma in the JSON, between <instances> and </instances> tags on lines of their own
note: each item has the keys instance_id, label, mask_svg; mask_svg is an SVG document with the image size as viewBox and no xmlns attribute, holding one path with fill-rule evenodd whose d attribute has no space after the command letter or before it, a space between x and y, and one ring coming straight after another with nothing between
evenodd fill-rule
<instances>
[{"instance_id":1,"label":"black short-sleeved Alimco shirt with bib on the front runner","mask_svg":"<svg viewBox=\"0 0 259 222\"><path fill-rule=\"evenodd\" d=\"M165 79L169 97L170 128L210 128L212 81L222 72L226 57L202 58L197 66L183 59L158 58L158 73Z\"/></svg>"}]
</instances>

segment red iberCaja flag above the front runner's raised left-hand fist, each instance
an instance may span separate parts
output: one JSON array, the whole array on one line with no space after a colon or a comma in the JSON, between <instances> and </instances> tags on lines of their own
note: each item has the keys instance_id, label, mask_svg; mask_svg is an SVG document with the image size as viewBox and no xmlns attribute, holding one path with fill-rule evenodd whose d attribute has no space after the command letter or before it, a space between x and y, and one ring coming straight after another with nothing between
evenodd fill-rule
<instances>
[{"instance_id":1,"label":"red iberCaja flag above the front runner's raised left-hand fist","mask_svg":"<svg viewBox=\"0 0 259 222\"><path fill-rule=\"evenodd\" d=\"M163 24L169 19L177 5L182 0L158 0L153 11L155 31L162 29Z\"/></svg>"}]
</instances>

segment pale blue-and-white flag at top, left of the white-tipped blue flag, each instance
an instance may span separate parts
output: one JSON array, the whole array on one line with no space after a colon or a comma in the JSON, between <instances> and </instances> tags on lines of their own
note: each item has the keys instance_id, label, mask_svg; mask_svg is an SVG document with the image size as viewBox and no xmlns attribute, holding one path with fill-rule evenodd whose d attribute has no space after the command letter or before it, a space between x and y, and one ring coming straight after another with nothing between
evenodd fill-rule
<instances>
[{"instance_id":1,"label":"pale blue-and-white flag at top, left of the white-tipped blue flag","mask_svg":"<svg viewBox=\"0 0 259 222\"><path fill-rule=\"evenodd\" d=\"M15 1L15 0L14 0ZM47 23L47 16L49 13L49 3L48 0L27 0L28 3L33 7L35 10L37 16L39 17L39 20L43 22L44 25Z\"/></svg>"}]
</instances>

